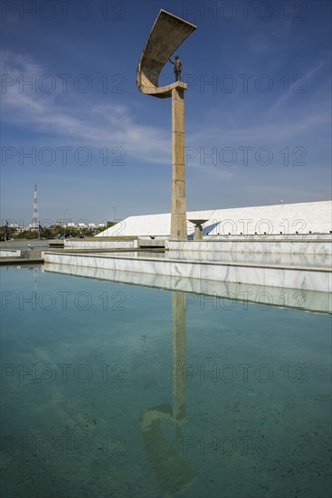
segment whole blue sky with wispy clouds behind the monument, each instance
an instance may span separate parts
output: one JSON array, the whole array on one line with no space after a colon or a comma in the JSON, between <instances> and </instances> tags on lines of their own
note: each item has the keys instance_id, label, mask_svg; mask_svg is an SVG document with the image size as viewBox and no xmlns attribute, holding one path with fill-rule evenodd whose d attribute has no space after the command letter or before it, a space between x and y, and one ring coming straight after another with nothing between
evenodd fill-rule
<instances>
[{"instance_id":1,"label":"whole blue sky with wispy clouds behind the monument","mask_svg":"<svg viewBox=\"0 0 332 498\"><path fill-rule=\"evenodd\" d=\"M31 222L35 182L41 220L170 211L171 101L135 82L160 8L197 25L177 51L187 209L331 197L330 2L7 1L2 220Z\"/></svg>"}]
</instances>

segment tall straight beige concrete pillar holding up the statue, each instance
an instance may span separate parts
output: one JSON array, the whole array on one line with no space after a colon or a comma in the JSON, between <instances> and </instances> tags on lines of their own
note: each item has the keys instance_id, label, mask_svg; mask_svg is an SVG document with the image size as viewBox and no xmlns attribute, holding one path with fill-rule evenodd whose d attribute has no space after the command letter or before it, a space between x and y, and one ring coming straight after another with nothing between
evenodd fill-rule
<instances>
[{"instance_id":1,"label":"tall straight beige concrete pillar holding up the statue","mask_svg":"<svg viewBox=\"0 0 332 498\"><path fill-rule=\"evenodd\" d=\"M186 240L185 211L185 89L172 89L171 239Z\"/></svg>"}]
</instances>

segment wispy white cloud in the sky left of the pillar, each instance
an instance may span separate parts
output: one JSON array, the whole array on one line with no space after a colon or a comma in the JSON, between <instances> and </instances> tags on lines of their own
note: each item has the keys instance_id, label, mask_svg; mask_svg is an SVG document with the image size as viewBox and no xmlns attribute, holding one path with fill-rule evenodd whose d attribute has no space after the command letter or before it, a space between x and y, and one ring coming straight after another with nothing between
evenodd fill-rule
<instances>
[{"instance_id":1,"label":"wispy white cloud in the sky left of the pillar","mask_svg":"<svg viewBox=\"0 0 332 498\"><path fill-rule=\"evenodd\" d=\"M23 76L29 81L47 74L37 63L24 60L21 55L8 53L3 57L3 74L18 81ZM12 80L14 81L14 80ZM18 84L7 85L3 92L3 113L9 122L29 126L29 130L52 138L71 139L90 147L126 148L128 156L149 163L169 164L170 133L156 126L139 123L127 106L119 103L102 105L95 102L82 108L81 102L68 100L59 91L33 92L31 88L19 91ZM169 135L169 136L167 136Z\"/></svg>"}]
</instances>

